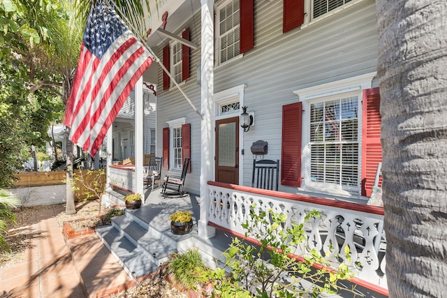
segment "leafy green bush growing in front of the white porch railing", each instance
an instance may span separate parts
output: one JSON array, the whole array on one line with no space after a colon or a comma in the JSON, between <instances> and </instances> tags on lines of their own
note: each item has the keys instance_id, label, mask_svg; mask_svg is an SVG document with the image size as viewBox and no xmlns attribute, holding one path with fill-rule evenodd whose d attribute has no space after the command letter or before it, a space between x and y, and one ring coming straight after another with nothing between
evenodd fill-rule
<instances>
[{"instance_id":1,"label":"leafy green bush growing in front of the white porch railing","mask_svg":"<svg viewBox=\"0 0 447 298\"><path fill-rule=\"evenodd\" d=\"M211 280L214 285L213 297L320 297L321 293L335 294L337 281L353 276L345 264L337 264L337 271L328 270L335 263L325 260L315 249L305 248L304 223L284 228L286 214L275 214L272 209L268 214L256 211L254 204L251 220L242 227L247 231L244 236L257 239L258 245L235 238L223 253L224 268L230 273L222 268L204 272L203 280ZM305 221L319 216L318 211L309 211ZM302 261L294 257L297 248L305 248L300 253L304 256ZM349 255L349 251L345 253ZM303 281L312 285L303 287Z\"/></svg>"}]
</instances>

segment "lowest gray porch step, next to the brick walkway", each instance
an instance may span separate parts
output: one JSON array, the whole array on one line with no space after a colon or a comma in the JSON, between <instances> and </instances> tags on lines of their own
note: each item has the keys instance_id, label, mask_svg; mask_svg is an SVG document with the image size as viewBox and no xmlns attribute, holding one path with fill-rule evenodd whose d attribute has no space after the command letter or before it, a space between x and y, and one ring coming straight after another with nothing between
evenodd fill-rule
<instances>
[{"instance_id":1,"label":"lowest gray porch step, next to the brick walkway","mask_svg":"<svg viewBox=\"0 0 447 298\"><path fill-rule=\"evenodd\" d=\"M158 270L158 265L149 260L140 248L133 245L113 225L97 227L96 234L132 278L138 278Z\"/></svg>"}]
</instances>

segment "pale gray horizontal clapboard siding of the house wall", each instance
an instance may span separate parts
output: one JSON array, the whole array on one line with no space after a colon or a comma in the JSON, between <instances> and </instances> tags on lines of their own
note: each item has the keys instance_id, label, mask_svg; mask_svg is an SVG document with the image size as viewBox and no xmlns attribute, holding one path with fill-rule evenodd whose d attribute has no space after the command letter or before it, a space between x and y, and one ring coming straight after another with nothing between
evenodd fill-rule
<instances>
[{"instance_id":1,"label":"pale gray horizontal clapboard siding of the house wall","mask_svg":"<svg viewBox=\"0 0 447 298\"><path fill-rule=\"evenodd\" d=\"M251 185L253 158L250 147L256 140L268 142L268 159L281 159L281 109L295 103L294 90L342 80L376 71L377 33L374 0L362 1L304 29L282 33L282 1L255 1L255 47L242 59L214 69L214 92L247 84L244 105L255 112L255 126L244 133L243 185ZM191 40L200 44L200 17L195 15L184 27L190 27ZM180 30L180 29L179 29ZM176 33L176 32L174 32ZM162 48L159 45L159 57ZM200 89L196 85L196 66L200 48L191 50L191 77L182 88L200 110ZM163 74L159 68L159 86ZM166 121L186 117L191 123L192 171L186 188L199 193L200 118L177 89L159 91L158 140ZM161 142L157 150L161 150ZM161 151L159 151L161 152ZM295 193L296 188L279 186L279 191Z\"/></svg>"}]
</instances>

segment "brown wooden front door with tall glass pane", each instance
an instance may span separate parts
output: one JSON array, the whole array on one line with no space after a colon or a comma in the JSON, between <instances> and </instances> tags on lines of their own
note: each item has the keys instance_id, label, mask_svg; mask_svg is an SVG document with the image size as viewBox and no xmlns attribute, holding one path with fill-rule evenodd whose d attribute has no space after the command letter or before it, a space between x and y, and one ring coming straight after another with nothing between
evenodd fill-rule
<instances>
[{"instance_id":1,"label":"brown wooden front door with tall glass pane","mask_svg":"<svg viewBox=\"0 0 447 298\"><path fill-rule=\"evenodd\" d=\"M239 117L216 121L216 181L239 184Z\"/></svg>"}]
</instances>

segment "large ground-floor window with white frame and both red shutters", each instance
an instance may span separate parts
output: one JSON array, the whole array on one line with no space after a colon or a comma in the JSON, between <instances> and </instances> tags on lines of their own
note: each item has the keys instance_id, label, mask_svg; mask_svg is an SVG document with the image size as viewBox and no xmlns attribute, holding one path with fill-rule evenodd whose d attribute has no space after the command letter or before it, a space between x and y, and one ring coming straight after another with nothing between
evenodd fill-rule
<instances>
[{"instance_id":1,"label":"large ground-floor window with white frame and both red shutters","mask_svg":"<svg viewBox=\"0 0 447 298\"><path fill-rule=\"evenodd\" d=\"M294 91L283 106L281 184L333 195L371 193L381 162L375 73Z\"/></svg>"}]
</instances>

